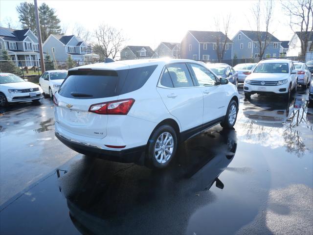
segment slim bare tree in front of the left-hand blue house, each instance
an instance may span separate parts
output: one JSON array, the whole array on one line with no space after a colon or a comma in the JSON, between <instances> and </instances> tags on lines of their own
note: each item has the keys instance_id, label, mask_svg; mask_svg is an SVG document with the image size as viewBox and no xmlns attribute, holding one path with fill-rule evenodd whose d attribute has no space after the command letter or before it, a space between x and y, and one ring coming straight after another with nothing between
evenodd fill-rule
<instances>
[{"instance_id":1,"label":"slim bare tree in front of the left-hand blue house","mask_svg":"<svg viewBox=\"0 0 313 235\"><path fill-rule=\"evenodd\" d=\"M222 33L224 33L224 35L220 33L221 32L220 18L216 17L214 21L215 21L215 29L217 31L217 34L215 36L216 54L219 60L223 60L226 44L228 43L227 39L228 39L229 26L231 24L231 15L229 14L225 18L223 18L223 28L222 28L223 32Z\"/></svg>"}]
</instances>

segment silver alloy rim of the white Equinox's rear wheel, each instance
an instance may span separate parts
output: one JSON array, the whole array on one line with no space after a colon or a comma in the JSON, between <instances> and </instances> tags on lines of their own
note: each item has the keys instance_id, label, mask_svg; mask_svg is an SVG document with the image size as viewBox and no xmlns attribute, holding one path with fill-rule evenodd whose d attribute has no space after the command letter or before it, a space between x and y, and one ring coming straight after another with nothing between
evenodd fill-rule
<instances>
[{"instance_id":1,"label":"silver alloy rim of the white Equinox's rear wheel","mask_svg":"<svg viewBox=\"0 0 313 235\"><path fill-rule=\"evenodd\" d=\"M171 133L163 132L156 140L154 154L159 164L164 164L172 157L174 139Z\"/></svg>"}]
</instances>

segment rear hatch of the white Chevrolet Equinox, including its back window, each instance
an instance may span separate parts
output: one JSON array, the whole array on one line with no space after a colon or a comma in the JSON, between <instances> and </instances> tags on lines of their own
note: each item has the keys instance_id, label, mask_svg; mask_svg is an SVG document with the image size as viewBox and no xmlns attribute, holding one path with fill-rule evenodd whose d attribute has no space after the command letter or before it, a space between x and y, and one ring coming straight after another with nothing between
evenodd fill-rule
<instances>
[{"instance_id":1,"label":"rear hatch of the white Chevrolet Equinox, including its back window","mask_svg":"<svg viewBox=\"0 0 313 235\"><path fill-rule=\"evenodd\" d=\"M73 134L104 138L107 135L107 115L88 112L93 104L114 101L120 79L127 70L69 71L68 77L56 95L57 122Z\"/></svg>"}]
</instances>

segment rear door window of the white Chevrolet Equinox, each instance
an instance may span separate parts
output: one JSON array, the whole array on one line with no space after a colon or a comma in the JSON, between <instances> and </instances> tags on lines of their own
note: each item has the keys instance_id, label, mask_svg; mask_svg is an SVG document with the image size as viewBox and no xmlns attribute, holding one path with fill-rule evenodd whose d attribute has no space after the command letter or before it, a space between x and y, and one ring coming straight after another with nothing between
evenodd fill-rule
<instances>
[{"instance_id":1,"label":"rear door window of the white Chevrolet Equinox","mask_svg":"<svg viewBox=\"0 0 313 235\"><path fill-rule=\"evenodd\" d=\"M168 65L167 70L175 88L194 86L185 64Z\"/></svg>"}]
</instances>

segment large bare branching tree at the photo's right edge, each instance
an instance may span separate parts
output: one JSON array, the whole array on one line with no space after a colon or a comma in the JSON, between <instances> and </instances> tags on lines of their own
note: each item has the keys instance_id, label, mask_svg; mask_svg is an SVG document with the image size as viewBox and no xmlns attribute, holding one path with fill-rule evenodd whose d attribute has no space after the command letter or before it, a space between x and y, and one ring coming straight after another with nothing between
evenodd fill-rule
<instances>
[{"instance_id":1,"label":"large bare branching tree at the photo's right edge","mask_svg":"<svg viewBox=\"0 0 313 235\"><path fill-rule=\"evenodd\" d=\"M281 4L286 15L290 17L291 30L300 32L298 37L301 42L301 55L305 55L313 34L313 0L281 1Z\"/></svg>"}]
</instances>

